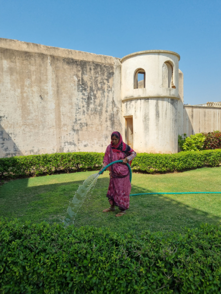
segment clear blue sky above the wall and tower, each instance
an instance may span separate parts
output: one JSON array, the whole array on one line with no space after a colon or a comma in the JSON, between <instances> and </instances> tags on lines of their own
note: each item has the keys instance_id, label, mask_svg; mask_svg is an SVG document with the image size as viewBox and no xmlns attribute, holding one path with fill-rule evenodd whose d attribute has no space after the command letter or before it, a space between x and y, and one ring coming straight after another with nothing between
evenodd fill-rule
<instances>
[{"instance_id":1,"label":"clear blue sky above the wall and tower","mask_svg":"<svg viewBox=\"0 0 221 294\"><path fill-rule=\"evenodd\" d=\"M221 101L221 0L0 0L0 37L114 57L175 51L184 103Z\"/></svg>"}]
</instances>

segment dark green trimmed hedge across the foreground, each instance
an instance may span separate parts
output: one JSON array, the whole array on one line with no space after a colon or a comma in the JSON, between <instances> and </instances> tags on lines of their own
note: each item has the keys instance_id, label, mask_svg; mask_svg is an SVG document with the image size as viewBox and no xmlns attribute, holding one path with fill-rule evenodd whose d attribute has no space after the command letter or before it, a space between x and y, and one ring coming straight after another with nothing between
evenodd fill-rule
<instances>
[{"instance_id":1,"label":"dark green trimmed hedge across the foreground","mask_svg":"<svg viewBox=\"0 0 221 294\"><path fill-rule=\"evenodd\" d=\"M0 221L0 293L220 294L221 227L120 235Z\"/></svg>"}]
</instances>

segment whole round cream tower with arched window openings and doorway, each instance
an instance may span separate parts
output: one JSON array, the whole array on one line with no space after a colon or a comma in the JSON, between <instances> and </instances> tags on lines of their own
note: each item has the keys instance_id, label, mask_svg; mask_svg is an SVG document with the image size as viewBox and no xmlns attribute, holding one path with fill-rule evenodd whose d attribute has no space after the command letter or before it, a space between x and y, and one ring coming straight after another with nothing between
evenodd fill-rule
<instances>
[{"instance_id":1,"label":"whole round cream tower with arched window openings and doorway","mask_svg":"<svg viewBox=\"0 0 221 294\"><path fill-rule=\"evenodd\" d=\"M137 152L177 152L179 60L179 54L166 50L121 59L125 140Z\"/></svg>"}]
</instances>

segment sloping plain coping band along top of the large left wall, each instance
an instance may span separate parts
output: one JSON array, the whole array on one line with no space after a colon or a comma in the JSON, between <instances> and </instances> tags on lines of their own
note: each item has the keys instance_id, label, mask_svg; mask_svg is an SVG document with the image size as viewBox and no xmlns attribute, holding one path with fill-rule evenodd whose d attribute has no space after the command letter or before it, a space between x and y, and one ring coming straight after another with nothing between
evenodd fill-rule
<instances>
[{"instance_id":1,"label":"sloping plain coping band along top of the large left wall","mask_svg":"<svg viewBox=\"0 0 221 294\"><path fill-rule=\"evenodd\" d=\"M59 47L51 47L41 44L28 43L12 39L0 38L0 48L12 49L18 51L26 51L32 53L42 53L47 55L54 55L57 57L71 58L89 62L104 63L107 65L114 65L115 57L108 55L101 55L95 53L89 53L84 51L64 49ZM120 58L116 58L120 59Z\"/></svg>"}]
</instances>

